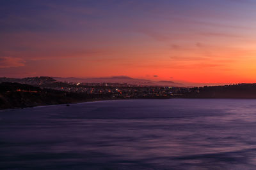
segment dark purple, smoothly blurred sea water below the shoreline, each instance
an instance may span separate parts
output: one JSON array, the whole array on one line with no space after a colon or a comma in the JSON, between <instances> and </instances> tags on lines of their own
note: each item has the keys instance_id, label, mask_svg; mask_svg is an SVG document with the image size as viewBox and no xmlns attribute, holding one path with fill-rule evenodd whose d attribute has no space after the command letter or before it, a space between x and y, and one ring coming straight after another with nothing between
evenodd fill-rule
<instances>
[{"instance_id":1,"label":"dark purple, smoothly blurred sea water below the shoreline","mask_svg":"<svg viewBox=\"0 0 256 170\"><path fill-rule=\"evenodd\" d=\"M256 100L0 111L0 169L256 169Z\"/></svg>"}]
</instances>

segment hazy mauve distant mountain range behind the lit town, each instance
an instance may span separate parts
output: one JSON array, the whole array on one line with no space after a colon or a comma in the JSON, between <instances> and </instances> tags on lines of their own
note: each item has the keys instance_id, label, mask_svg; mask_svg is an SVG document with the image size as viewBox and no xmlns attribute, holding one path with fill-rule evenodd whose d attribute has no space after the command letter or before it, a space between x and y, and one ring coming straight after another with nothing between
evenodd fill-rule
<instances>
[{"instance_id":1,"label":"hazy mauve distant mountain range behind the lit town","mask_svg":"<svg viewBox=\"0 0 256 170\"><path fill-rule=\"evenodd\" d=\"M139 78L131 78L129 76L111 76L101 78L60 78L54 77L58 81L80 82L80 83L127 83L131 85L159 85L170 87L184 87L182 83L175 83L173 81L152 81Z\"/></svg>"}]
</instances>

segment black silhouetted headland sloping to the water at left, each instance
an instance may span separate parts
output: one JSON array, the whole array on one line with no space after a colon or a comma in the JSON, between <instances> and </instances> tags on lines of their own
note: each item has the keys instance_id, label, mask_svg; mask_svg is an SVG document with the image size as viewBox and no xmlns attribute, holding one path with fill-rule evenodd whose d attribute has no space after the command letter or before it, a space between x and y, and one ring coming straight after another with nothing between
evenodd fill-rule
<instances>
[{"instance_id":1,"label":"black silhouetted headland sloping to the water at left","mask_svg":"<svg viewBox=\"0 0 256 170\"><path fill-rule=\"evenodd\" d=\"M20 83L0 83L0 109L78 103L98 99L97 94L77 94L52 89L40 89Z\"/></svg>"}]
</instances>

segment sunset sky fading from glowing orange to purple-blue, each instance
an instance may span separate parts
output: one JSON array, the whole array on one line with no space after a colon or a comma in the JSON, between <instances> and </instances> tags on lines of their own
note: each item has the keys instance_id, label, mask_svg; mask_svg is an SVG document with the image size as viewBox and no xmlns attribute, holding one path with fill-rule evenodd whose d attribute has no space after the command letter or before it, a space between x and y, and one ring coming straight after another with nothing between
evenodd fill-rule
<instances>
[{"instance_id":1,"label":"sunset sky fading from glowing orange to purple-blue","mask_svg":"<svg viewBox=\"0 0 256 170\"><path fill-rule=\"evenodd\" d=\"M1 0L0 76L256 82L255 0Z\"/></svg>"}]
</instances>

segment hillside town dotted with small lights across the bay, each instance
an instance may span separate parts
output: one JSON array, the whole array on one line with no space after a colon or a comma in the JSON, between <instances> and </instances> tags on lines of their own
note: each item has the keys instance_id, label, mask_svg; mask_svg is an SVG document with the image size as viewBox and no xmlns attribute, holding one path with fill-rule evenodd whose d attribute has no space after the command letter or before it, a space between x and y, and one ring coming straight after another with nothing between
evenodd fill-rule
<instances>
[{"instance_id":1,"label":"hillside town dotted with small lights across the bay","mask_svg":"<svg viewBox=\"0 0 256 170\"><path fill-rule=\"evenodd\" d=\"M85 94L101 94L102 96L136 98L136 97L175 97L184 93L186 88L180 87L152 87L134 86L128 84L109 84L109 83L76 83L52 85L49 89L63 90L66 92L76 92Z\"/></svg>"}]
</instances>

